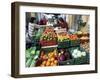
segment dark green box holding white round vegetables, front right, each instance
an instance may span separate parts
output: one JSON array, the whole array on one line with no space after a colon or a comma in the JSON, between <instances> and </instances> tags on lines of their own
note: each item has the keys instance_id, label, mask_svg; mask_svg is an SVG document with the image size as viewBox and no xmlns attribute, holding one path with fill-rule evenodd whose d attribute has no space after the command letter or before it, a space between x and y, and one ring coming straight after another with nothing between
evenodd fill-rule
<instances>
[{"instance_id":1,"label":"dark green box holding white round vegetables, front right","mask_svg":"<svg viewBox=\"0 0 100 80\"><path fill-rule=\"evenodd\" d=\"M73 47L69 48L69 51L72 55L72 59L74 59L74 64L89 64L89 53L87 53L83 48L81 47Z\"/></svg>"}]
</instances>

